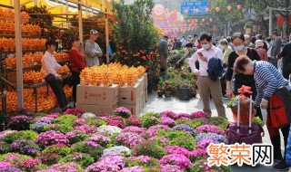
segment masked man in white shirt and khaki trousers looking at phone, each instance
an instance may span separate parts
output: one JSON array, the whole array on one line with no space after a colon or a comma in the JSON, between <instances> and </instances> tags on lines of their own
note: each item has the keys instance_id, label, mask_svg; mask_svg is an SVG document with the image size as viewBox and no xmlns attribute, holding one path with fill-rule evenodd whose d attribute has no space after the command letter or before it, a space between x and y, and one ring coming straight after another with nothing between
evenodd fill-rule
<instances>
[{"instance_id":1,"label":"masked man in white shirt and khaki trousers looking at phone","mask_svg":"<svg viewBox=\"0 0 291 172\"><path fill-rule=\"evenodd\" d=\"M199 49L189 60L189 65L192 72L195 72L198 76L197 86L199 95L203 102L203 110L208 116L211 116L211 109L209 106L210 94L216 105L216 110L218 115L221 117L226 117L226 110L222 100L220 80L217 79L213 81L208 76L208 61L209 59L215 57L222 61L223 53L222 51L212 44L212 36L204 33L200 37L202 44L202 49ZM199 62L199 70L196 69L195 62Z\"/></svg>"}]
</instances>

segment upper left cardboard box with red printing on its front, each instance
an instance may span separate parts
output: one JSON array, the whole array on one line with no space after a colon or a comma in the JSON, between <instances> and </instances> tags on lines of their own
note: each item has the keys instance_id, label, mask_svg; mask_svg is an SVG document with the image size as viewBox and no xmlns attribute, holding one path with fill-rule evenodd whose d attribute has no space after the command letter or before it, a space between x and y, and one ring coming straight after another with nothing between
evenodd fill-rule
<instances>
[{"instance_id":1,"label":"upper left cardboard box with red printing on its front","mask_svg":"<svg viewBox=\"0 0 291 172\"><path fill-rule=\"evenodd\" d=\"M78 85L76 103L82 105L114 106L118 104L119 86L99 87Z\"/></svg>"}]
</instances>

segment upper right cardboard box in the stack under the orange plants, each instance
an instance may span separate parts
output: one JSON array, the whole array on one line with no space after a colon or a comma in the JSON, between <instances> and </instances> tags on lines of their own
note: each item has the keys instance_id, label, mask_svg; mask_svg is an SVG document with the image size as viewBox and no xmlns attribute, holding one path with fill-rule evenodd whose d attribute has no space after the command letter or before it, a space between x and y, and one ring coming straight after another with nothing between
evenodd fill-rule
<instances>
[{"instance_id":1,"label":"upper right cardboard box in the stack under the orange plants","mask_svg":"<svg viewBox=\"0 0 291 172\"><path fill-rule=\"evenodd\" d=\"M143 93L141 82L136 82L134 87L119 88L119 104L135 105L141 99Z\"/></svg>"}]
</instances>

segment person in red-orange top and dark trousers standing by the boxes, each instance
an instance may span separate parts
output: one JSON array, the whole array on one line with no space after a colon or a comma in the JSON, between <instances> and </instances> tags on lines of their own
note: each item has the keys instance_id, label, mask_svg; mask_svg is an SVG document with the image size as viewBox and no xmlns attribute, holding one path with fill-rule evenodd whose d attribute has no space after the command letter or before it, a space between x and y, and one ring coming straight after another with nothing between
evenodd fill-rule
<instances>
[{"instance_id":1,"label":"person in red-orange top and dark trousers standing by the boxes","mask_svg":"<svg viewBox=\"0 0 291 172\"><path fill-rule=\"evenodd\" d=\"M80 72L85 68L84 53L81 52L81 43L79 38L72 40L72 48L69 56L71 60L71 72L73 78L73 99L76 102L76 86L80 84Z\"/></svg>"}]
</instances>

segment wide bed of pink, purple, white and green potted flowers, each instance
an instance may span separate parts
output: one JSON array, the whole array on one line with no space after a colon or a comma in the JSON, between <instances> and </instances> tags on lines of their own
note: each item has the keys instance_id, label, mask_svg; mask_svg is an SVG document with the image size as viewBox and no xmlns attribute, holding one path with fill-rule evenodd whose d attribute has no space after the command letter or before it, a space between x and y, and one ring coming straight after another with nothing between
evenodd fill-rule
<instances>
[{"instance_id":1,"label":"wide bed of pink, purple, white and green potted flowers","mask_svg":"<svg viewBox=\"0 0 291 172\"><path fill-rule=\"evenodd\" d=\"M98 115L68 110L31 116L31 130L0 132L0 171L231 171L208 167L205 160L210 143L226 142L225 119L170 110L133 117L125 108ZM123 129L113 120L123 122Z\"/></svg>"}]
</instances>

